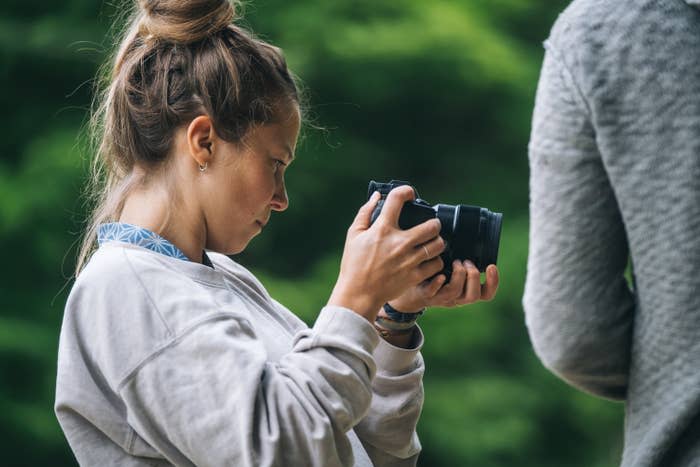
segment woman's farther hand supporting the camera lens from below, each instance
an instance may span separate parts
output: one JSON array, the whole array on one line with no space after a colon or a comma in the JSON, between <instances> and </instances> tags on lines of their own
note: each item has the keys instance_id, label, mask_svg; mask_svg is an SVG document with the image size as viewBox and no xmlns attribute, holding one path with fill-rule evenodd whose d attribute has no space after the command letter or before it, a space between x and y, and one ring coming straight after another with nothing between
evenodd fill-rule
<instances>
[{"instance_id":1,"label":"woman's farther hand supporting the camera lens from below","mask_svg":"<svg viewBox=\"0 0 700 467\"><path fill-rule=\"evenodd\" d=\"M439 306L453 308L478 301L489 301L498 289L498 268L491 264L486 268L486 281L481 283L481 273L469 260L455 260L452 277L445 285L445 275L438 274L409 289L389 304L404 313L418 312L423 308Z\"/></svg>"}]
</instances>

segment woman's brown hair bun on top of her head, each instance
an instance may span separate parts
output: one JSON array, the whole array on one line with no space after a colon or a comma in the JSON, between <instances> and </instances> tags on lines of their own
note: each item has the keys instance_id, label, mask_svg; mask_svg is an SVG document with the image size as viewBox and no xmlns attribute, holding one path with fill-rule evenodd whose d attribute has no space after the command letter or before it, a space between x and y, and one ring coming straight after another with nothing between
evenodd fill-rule
<instances>
[{"instance_id":1,"label":"woman's brown hair bun on top of her head","mask_svg":"<svg viewBox=\"0 0 700 467\"><path fill-rule=\"evenodd\" d=\"M205 39L231 24L231 0L139 0L144 37L188 44Z\"/></svg>"}]
</instances>

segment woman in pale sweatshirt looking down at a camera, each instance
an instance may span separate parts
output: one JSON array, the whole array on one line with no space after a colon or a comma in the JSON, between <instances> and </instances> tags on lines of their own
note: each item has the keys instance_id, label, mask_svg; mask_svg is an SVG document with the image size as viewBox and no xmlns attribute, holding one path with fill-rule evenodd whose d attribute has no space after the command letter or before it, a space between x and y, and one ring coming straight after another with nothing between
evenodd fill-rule
<instances>
[{"instance_id":1,"label":"woman in pale sweatshirt looking down at a camera","mask_svg":"<svg viewBox=\"0 0 700 467\"><path fill-rule=\"evenodd\" d=\"M142 1L115 56L95 117L106 184L61 331L61 427L83 465L415 464L415 318L490 299L496 268L483 286L458 262L449 284L430 279L440 226L398 228L408 188L371 227L378 195L359 210L313 328L225 256L287 208L301 119L281 52L234 13Z\"/></svg>"}]
</instances>

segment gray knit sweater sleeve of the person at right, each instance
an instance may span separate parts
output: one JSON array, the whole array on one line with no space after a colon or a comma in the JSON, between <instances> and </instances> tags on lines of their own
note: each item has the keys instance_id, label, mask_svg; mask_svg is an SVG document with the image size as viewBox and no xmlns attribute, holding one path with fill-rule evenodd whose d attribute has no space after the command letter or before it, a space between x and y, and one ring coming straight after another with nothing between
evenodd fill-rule
<instances>
[{"instance_id":1,"label":"gray knit sweater sleeve of the person at right","mask_svg":"<svg viewBox=\"0 0 700 467\"><path fill-rule=\"evenodd\" d=\"M529 146L526 323L546 367L580 389L623 399L634 316L625 229L586 100L545 46Z\"/></svg>"}]
</instances>

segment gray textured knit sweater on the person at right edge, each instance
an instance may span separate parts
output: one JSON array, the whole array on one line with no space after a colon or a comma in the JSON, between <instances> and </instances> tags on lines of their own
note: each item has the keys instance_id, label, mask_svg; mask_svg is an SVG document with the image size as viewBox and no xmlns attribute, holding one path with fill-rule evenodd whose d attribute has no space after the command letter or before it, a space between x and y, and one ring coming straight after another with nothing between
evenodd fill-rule
<instances>
[{"instance_id":1,"label":"gray textured knit sweater on the person at right edge","mask_svg":"<svg viewBox=\"0 0 700 467\"><path fill-rule=\"evenodd\" d=\"M533 117L528 329L552 371L625 401L629 467L700 466L697 3L574 1Z\"/></svg>"}]
</instances>

